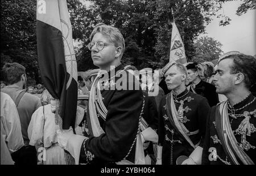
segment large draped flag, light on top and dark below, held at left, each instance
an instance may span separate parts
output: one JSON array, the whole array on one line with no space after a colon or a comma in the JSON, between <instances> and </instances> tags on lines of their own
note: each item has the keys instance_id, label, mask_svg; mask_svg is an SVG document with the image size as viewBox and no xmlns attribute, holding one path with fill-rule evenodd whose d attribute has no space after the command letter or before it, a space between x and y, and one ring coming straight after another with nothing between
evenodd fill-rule
<instances>
[{"instance_id":1,"label":"large draped flag, light on top and dark below, held at left","mask_svg":"<svg viewBox=\"0 0 256 176\"><path fill-rule=\"evenodd\" d=\"M72 27L65 0L37 0L36 36L38 63L43 84L60 100L63 130L75 128L77 63Z\"/></svg>"}]
</instances>

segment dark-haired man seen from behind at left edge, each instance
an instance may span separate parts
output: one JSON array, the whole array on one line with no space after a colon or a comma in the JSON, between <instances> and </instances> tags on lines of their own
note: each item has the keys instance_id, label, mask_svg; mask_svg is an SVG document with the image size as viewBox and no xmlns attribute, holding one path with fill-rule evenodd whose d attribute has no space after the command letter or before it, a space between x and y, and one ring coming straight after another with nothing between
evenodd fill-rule
<instances>
[{"instance_id":1,"label":"dark-haired man seen from behind at left edge","mask_svg":"<svg viewBox=\"0 0 256 176\"><path fill-rule=\"evenodd\" d=\"M3 66L3 74L8 85L2 88L1 92L7 93L16 104L25 144L22 151L19 150L12 154L13 160L15 164L37 164L36 149L29 145L30 140L28 139L27 128L32 114L42 106L42 103L39 97L31 95L24 90L27 82L24 66L15 62L6 63Z\"/></svg>"}]
</instances>

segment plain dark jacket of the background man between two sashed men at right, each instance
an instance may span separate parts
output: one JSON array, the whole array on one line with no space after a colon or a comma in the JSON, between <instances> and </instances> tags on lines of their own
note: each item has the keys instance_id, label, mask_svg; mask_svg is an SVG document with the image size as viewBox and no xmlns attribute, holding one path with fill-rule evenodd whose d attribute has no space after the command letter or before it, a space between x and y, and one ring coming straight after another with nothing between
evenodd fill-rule
<instances>
[{"instance_id":1,"label":"plain dark jacket of the background man between two sashed men at right","mask_svg":"<svg viewBox=\"0 0 256 176\"><path fill-rule=\"evenodd\" d=\"M194 89L198 95L207 98L210 107L217 105L218 94L216 93L216 88L214 87L214 85L201 80L198 84L196 84L196 87Z\"/></svg>"}]
</instances>

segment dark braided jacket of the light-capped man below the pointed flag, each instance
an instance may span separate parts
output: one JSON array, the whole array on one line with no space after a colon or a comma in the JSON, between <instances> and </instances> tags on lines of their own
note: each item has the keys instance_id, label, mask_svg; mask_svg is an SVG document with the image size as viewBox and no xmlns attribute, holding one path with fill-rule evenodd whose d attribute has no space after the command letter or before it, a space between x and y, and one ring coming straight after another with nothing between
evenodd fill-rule
<instances>
[{"instance_id":1,"label":"dark braided jacket of the light-capped man below the pointed flag","mask_svg":"<svg viewBox=\"0 0 256 176\"><path fill-rule=\"evenodd\" d=\"M159 107L158 145L163 146L162 164L175 165L177 157L181 155L189 156L193 152L194 148L191 147L187 140L185 140L183 136L180 136L171 125L166 111L166 98L167 95L162 98ZM192 140L194 145L200 143L200 147L203 147L207 114L210 109L207 99L186 89L177 96L176 100L184 101L183 125L189 132L199 130L196 134L190 135L189 138ZM178 110L180 103L175 102L175 106L176 110Z\"/></svg>"}]
</instances>

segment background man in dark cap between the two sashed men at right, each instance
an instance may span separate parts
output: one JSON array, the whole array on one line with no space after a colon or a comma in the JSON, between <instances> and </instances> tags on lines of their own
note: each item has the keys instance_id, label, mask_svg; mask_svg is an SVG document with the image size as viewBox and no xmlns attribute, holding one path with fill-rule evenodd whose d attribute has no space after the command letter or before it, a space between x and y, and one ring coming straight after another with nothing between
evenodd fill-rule
<instances>
[{"instance_id":1,"label":"background man in dark cap between the two sashed men at right","mask_svg":"<svg viewBox=\"0 0 256 176\"><path fill-rule=\"evenodd\" d=\"M188 81L191 83L188 85L188 89L193 93L197 93L207 98L209 105L214 106L218 103L218 95L214 85L201 80L197 63L189 63L187 66Z\"/></svg>"}]
</instances>

